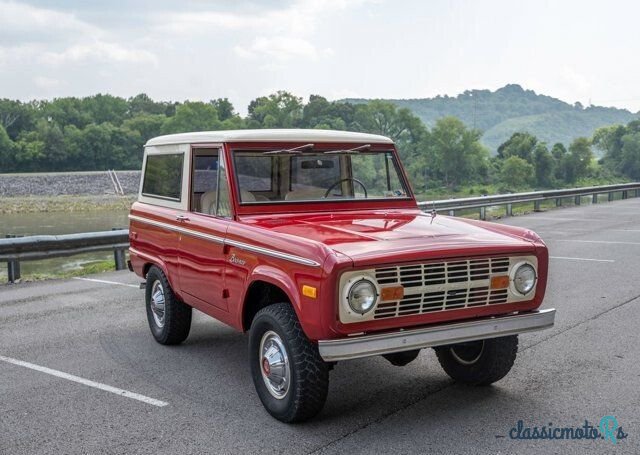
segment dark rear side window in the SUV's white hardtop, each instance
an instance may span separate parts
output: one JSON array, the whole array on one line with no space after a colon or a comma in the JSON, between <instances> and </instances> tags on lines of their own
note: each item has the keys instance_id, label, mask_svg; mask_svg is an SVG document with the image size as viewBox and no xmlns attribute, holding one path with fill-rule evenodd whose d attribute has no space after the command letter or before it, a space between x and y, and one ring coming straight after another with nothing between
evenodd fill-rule
<instances>
[{"instance_id":1,"label":"dark rear side window in the SUV's white hardtop","mask_svg":"<svg viewBox=\"0 0 640 455\"><path fill-rule=\"evenodd\" d=\"M184 153L148 155L142 194L180 201Z\"/></svg>"}]
</instances>

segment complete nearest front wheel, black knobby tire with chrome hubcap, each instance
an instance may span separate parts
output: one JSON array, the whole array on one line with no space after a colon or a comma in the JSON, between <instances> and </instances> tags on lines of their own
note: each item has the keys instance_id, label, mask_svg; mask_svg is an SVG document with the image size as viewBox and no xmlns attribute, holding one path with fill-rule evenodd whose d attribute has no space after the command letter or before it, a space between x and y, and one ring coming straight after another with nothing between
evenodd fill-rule
<instances>
[{"instance_id":1,"label":"complete nearest front wheel, black knobby tire with chrome hubcap","mask_svg":"<svg viewBox=\"0 0 640 455\"><path fill-rule=\"evenodd\" d=\"M289 303L261 309L249 333L251 377L265 409L276 419L302 422L323 408L329 365L306 337Z\"/></svg>"}]
</instances>

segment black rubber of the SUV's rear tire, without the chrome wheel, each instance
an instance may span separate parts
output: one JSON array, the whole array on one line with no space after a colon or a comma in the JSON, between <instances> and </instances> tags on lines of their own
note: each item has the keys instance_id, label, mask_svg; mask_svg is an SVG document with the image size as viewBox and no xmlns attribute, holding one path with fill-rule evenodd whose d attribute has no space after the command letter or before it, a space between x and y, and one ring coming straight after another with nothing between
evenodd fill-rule
<instances>
[{"instance_id":1,"label":"black rubber of the SUV's rear tire, without the chrome wheel","mask_svg":"<svg viewBox=\"0 0 640 455\"><path fill-rule=\"evenodd\" d=\"M182 303L173 293L169 280L160 268L155 265L147 272L145 288L145 304L147 321L151 334L160 344L180 344L189 336L191 329L191 307ZM159 282L164 291L164 324L158 325L151 309L151 294L155 282Z\"/></svg>"}]
</instances>

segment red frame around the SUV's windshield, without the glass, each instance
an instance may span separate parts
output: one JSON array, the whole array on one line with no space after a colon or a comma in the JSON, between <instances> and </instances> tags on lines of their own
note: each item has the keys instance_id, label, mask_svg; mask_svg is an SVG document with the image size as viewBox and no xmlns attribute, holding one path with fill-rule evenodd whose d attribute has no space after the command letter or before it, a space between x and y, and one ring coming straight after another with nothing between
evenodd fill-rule
<instances>
[{"instance_id":1,"label":"red frame around the SUV's windshield, without the glass","mask_svg":"<svg viewBox=\"0 0 640 455\"><path fill-rule=\"evenodd\" d=\"M256 144L256 143L237 143L228 144L229 151L229 164L230 171L232 172L234 191L234 203L237 207L237 213L242 214L254 214L254 213L273 213L273 212L302 212L302 211L326 211L326 210L358 210L358 209L378 209L378 208L417 208L413 190L407 179L404 167L400 161L396 148L392 144L371 144L370 148L365 152L359 152L362 154L379 154L390 153L392 156L392 163L395 167L398 180L403 185L405 190L404 196L397 197L371 197L371 198L322 198L322 199L307 199L307 200L280 200L280 201L241 201L240 198L240 182L239 173L236 171L236 156L243 152L269 152L274 150L288 150L294 147L303 146L302 143L270 143L270 144ZM319 143L315 144L310 151L296 152L295 154L285 156L309 156L322 154L328 151L336 150L349 150L354 146L364 144L353 143ZM272 155L278 156L278 155ZM335 155L334 155L335 156ZM274 170L272 169L272 172ZM326 206L326 207L324 207ZM311 208L313 207L313 208Z\"/></svg>"}]
</instances>

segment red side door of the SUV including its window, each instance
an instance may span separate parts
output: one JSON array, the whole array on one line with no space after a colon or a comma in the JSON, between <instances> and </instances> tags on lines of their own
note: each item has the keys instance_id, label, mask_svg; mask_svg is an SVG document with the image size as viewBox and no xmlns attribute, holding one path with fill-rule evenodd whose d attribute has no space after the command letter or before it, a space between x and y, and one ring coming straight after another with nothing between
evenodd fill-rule
<instances>
[{"instance_id":1,"label":"red side door of the SUV including its window","mask_svg":"<svg viewBox=\"0 0 640 455\"><path fill-rule=\"evenodd\" d=\"M220 148L191 153L189 211L180 221L180 288L193 306L227 311L224 238L231 204L223 154Z\"/></svg>"}]
</instances>

